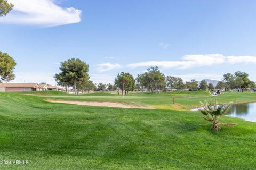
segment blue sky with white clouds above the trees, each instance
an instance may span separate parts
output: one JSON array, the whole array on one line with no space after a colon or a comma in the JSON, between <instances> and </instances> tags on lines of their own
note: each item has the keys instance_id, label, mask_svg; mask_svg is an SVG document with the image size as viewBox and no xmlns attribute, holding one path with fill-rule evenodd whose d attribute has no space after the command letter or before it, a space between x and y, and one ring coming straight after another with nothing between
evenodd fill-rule
<instances>
[{"instance_id":1,"label":"blue sky with white clouds above the trees","mask_svg":"<svg viewBox=\"0 0 256 170\"><path fill-rule=\"evenodd\" d=\"M13 82L55 84L59 63L73 57L90 65L95 83L155 65L185 81L238 70L256 81L256 1L9 2L0 51L17 62Z\"/></svg>"}]
</instances>

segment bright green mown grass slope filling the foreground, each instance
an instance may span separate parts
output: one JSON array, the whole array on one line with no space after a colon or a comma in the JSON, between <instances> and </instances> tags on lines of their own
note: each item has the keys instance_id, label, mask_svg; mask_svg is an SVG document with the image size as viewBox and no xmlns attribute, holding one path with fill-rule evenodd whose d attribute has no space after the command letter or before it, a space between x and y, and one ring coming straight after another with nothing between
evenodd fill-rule
<instances>
[{"instance_id":1,"label":"bright green mown grass slope filling the foreground","mask_svg":"<svg viewBox=\"0 0 256 170\"><path fill-rule=\"evenodd\" d=\"M47 103L0 94L0 169L255 169L255 123L210 131L197 112Z\"/></svg>"}]
</instances>

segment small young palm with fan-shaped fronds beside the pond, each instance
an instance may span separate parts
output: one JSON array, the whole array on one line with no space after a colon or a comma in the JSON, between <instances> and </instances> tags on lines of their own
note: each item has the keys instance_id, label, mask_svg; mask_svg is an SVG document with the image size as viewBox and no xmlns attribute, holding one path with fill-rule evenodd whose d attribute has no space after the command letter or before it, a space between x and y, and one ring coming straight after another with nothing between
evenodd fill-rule
<instances>
[{"instance_id":1,"label":"small young palm with fan-shaped fronds beside the pond","mask_svg":"<svg viewBox=\"0 0 256 170\"><path fill-rule=\"evenodd\" d=\"M202 105L202 109L199 111L205 115L203 117L206 121L212 123L212 130L218 131L219 125L235 125L234 123L219 123L218 120L221 116L230 114L231 109L233 106L229 104L218 104L217 102L213 101L205 101L204 103L200 102Z\"/></svg>"}]
</instances>

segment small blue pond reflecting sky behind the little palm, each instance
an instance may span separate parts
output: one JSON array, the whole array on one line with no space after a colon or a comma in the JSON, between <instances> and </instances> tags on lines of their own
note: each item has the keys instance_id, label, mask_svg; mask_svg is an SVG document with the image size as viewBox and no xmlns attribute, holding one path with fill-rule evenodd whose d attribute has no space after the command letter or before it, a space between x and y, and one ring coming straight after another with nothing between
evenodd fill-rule
<instances>
[{"instance_id":1,"label":"small blue pond reflecting sky behind the little palm","mask_svg":"<svg viewBox=\"0 0 256 170\"><path fill-rule=\"evenodd\" d=\"M197 109L192 109L197 111ZM236 104L233 111L227 115L243 118L246 121L256 122L256 103Z\"/></svg>"}]
</instances>

